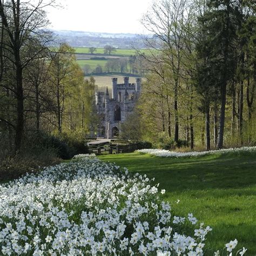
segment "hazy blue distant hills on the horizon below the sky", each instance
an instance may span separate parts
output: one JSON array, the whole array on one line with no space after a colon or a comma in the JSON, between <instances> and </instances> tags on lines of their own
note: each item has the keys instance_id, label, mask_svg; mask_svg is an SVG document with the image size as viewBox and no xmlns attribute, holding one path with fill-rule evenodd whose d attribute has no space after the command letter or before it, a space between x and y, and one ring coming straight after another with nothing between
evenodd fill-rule
<instances>
[{"instance_id":1,"label":"hazy blue distant hills on the horizon below the sky","mask_svg":"<svg viewBox=\"0 0 256 256\"><path fill-rule=\"evenodd\" d=\"M109 44L120 49L131 49L136 42L137 48L145 48L139 36L131 33L99 33L72 30L51 30L60 42L70 44L72 47L103 48Z\"/></svg>"}]
</instances>

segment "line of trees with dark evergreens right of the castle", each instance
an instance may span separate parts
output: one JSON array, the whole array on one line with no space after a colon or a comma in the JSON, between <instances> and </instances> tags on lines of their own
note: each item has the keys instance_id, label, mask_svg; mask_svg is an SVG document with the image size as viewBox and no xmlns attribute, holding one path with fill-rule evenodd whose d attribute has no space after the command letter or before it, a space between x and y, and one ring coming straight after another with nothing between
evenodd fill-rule
<instances>
[{"instance_id":1,"label":"line of trees with dark evergreens right of the castle","mask_svg":"<svg viewBox=\"0 0 256 256\"><path fill-rule=\"evenodd\" d=\"M255 143L253 1L161 0L142 23L144 138L206 150Z\"/></svg>"}]
</instances>

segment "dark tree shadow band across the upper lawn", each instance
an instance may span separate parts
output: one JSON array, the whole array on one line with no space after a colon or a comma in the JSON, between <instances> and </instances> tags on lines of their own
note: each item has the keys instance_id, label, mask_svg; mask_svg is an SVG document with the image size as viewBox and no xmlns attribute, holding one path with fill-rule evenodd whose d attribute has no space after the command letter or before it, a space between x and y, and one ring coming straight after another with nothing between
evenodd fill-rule
<instances>
[{"instance_id":1,"label":"dark tree shadow band across the upper lawn","mask_svg":"<svg viewBox=\"0 0 256 256\"><path fill-rule=\"evenodd\" d=\"M156 178L157 183L169 192L209 188L238 189L256 184L255 158L251 156L160 158L130 153L102 156L100 159L127 167L130 172Z\"/></svg>"}]
</instances>

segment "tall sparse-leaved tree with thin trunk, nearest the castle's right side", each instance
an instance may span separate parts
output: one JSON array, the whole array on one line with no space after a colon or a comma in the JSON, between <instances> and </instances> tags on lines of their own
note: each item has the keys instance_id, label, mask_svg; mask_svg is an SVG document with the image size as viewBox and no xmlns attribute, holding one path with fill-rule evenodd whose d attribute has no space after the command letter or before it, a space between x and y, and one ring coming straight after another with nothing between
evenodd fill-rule
<instances>
[{"instance_id":1,"label":"tall sparse-leaved tree with thin trunk, nearest the castle's right side","mask_svg":"<svg viewBox=\"0 0 256 256\"><path fill-rule=\"evenodd\" d=\"M179 139L178 97L181 80L181 65L184 58L184 27L190 19L190 3L187 0L161 0L154 3L144 15L142 23L153 34L144 36L150 55L143 55L151 63L165 63L171 70L173 84L174 140ZM150 56L150 57L148 57Z\"/></svg>"}]
</instances>

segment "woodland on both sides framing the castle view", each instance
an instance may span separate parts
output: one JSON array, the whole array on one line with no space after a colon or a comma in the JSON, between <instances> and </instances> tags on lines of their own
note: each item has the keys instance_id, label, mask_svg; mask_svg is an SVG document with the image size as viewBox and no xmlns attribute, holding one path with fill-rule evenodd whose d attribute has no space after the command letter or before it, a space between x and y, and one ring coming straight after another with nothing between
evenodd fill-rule
<instances>
[{"instance_id":1,"label":"woodland on both sides framing the castle view","mask_svg":"<svg viewBox=\"0 0 256 256\"><path fill-rule=\"evenodd\" d=\"M95 80L84 79L75 50L45 29L45 8L55 4L0 1L4 169L17 159L35 167L40 159L45 164L85 153L86 134L97 130ZM145 79L121 138L164 149L254 145L253 1L161 0L142 24L146 50L133 47Z\"/></svg>"}]
</instances>

